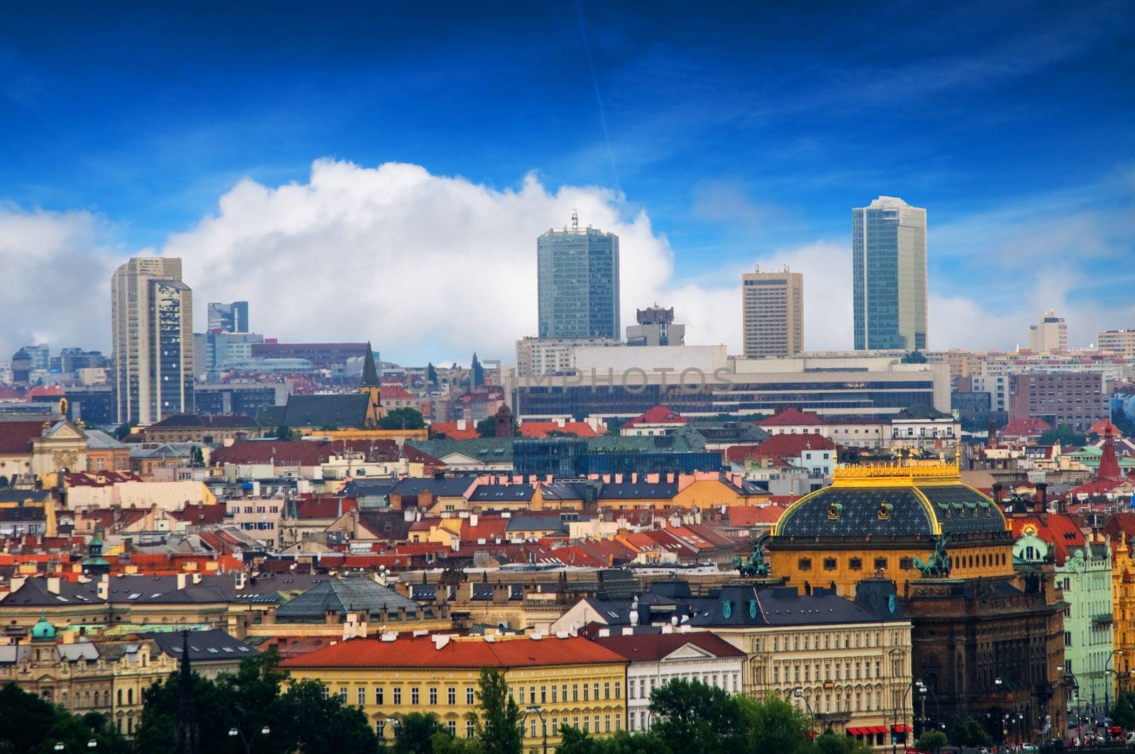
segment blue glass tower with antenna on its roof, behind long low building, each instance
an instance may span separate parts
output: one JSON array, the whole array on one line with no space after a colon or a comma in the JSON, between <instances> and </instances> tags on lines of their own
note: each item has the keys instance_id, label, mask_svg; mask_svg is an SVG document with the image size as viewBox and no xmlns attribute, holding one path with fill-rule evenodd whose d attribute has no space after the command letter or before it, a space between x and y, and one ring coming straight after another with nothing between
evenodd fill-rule
<instances>
[{"instance_id":1,"label":"blue glass tower with antenna on its roof, behind long low building","mask_svg":"<svg viewBox=\"0 0 1135 754\"><path fill-rule=\"evenodd\" d=\"M619 236L588 226L552 228L536 242L540 337L609 337L619 328Z\"/></svg>"}]
</instances>

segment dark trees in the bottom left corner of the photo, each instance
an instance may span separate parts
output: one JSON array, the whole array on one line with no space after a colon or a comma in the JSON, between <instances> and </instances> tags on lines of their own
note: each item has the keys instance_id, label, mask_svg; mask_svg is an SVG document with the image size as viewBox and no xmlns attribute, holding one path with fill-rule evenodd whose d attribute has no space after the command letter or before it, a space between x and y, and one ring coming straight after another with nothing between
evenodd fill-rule
<instances>
[{"instance_id":1,"label":"dark trees in the bottom left corner of the photo","mask_svg":"<svg viewBox=\"0 0 1135 754\"><path fill-rule=\"evenodd\" d=\"M0 688L0 752L33 752L53 754L61 743L69 752L89 751L87 742L95 742L95 751L126 754L129 742L107 724L106 715L72 714L61 706L28 694L16 684Z\"/></svg>"}]
</instances>

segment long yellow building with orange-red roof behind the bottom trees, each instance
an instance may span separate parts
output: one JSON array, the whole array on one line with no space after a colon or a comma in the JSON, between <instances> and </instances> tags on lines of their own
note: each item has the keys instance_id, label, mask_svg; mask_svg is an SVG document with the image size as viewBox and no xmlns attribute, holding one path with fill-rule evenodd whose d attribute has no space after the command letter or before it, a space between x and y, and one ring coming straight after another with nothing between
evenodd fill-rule
<instances>
[{"instance_id":1,"label":"long yellow building with orange-red roof behind the bottom trees","mask_svg":"<svg viewBox=\"0 0 1135 754\"><path fill-rule=\"evenodd\" d=\"M352 639L285 660L293 679L313 678L360 707L384 738L411 712L434 713L472 738L482 668L504 673L523 718L523 746L558 743L561 726L607 736L625 726L627 661L582 637L462 636ZM538 711L538 712L537 712Z\"/></svg>"}]
</instances>

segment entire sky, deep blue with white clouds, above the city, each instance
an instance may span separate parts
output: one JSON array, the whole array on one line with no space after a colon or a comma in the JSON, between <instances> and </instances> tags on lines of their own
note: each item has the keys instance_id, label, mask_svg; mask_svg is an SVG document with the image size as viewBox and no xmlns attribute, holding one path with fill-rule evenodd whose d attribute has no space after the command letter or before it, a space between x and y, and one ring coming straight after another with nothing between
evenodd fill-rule
<instances>
[{"instance_id":1,"label":"entire sky, deep blue with white clouds, above the city","mask_svg":"<svg viewBox=\"0 0 1135 754\"><path fill-rule=\"evenodd\" d=\"M258 329L287 340L371 337L406 362L459 358L469 345L506 358L516 337L537 332L531 238L578 206L587 223L620 235L624 269L649 270L639 279L624 273L622 321L666 301L687 322L688 342L739 352L735 280L756 262L790 263L810 280L808 347L851 347L846 212L880 194L934 218L931 349L1011 349L1046 309L1067 312L1071 346L1135 320L1124 295L1129 275L1116 268L1135 252L1126 232L1130 136L1117 127L1132 115L1121 94L1129 8L891 7L850 16L831 7L815 40L799 33L802 20L817 28L809 17L746 18L725 8L686 19L691 34L667 47L637 32L644 19L627 10L585 3L580 11L462 15L466 32L438 78L407 78L388 52L367 57L393 28L392 51L435 50L421 18L384 19L376 36L364 33L373 17L352 16L346 28L330 12L312 44L331 50L334 39L334 55L299 92L291 64L286 75L254 66L215 99L193 99L192 111L183 95L201 90L203 74L191 72L203 66L194 65L199 50L182 44L190 32L146 16L127 23L77 11L48 33L34 11L15 14L0 37L9 74L0 107L12 116L0 133L22 149L0 166L0 259L24 285L0 304L0 344L109 350L96 321L106 317L102 280L129 255L160 252L185 260L202 301L251 299ZM661 6L649 23L675 12ZM212 20L209 33L229 40L252 17ZM255 40L241 34L254 50L227 45L216 66L244 70L250 55L278 60L305 31L294 15L267 23ZM527 76L512 75L513 56L486 57L495 42L527 50L553 28L571 33L533 56ZM115 65L123 30L140 32L136 55L152 66ZM799 65L785 74L779 64L740 62L754 39L770 61ZM58 44L87 51L83 75L70 75ZM168 97L151 101L142 95L152 91L149 69L169 70L174 49L187 65L163 82ZM474 58L476 69L462 62ZM369 89L356 86L359 70ZM100 89L107 76L119 86ZM452 110L453 81L465 81L470 104L443 119L439 139L422 118ZM336 99L344 86L352 107ZM891 107L892 89L902 91L901 108ZM268 107L266 97L292 104ZM711 97L714 107L699 109ZM49 134L66 127L76 104L87 107L87 135L60 144ZM700 114L692 123L688 104ZM403 115L373 117L392 107ZM129 125L142 123L151 131ZM872 137L888 149L859 149ZM305 269L305 307L285 305L278 293L311 259L335 263ZM375 290L343 296L340 270L368 266ZM251 284L253 271L261 285ZM400 313L421 296L414 286L382 290L392 276L428 279L439 303L406 321ZM491 286L507 300L481 311L480 292ZM83 316L15 316L44 290Z\"/></svg>"}]
</instances>

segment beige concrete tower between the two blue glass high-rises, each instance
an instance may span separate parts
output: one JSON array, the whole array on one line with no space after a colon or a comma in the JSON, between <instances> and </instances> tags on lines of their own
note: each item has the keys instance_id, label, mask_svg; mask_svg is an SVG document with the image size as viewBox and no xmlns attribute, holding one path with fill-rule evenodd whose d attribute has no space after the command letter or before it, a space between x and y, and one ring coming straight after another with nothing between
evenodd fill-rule
<instances>
[{"instance_id":1,"label":"beige concrete tower between the two blue glass high-rises","mask_svg":"<svg viewBox=\"0 0 1135 754\"><path fill-rule=\"evenodd\" d=\"M780 273L741 275L745 355L790 357L804 350L804 274L788 265Z\"/></svg>"}]
</instances>

